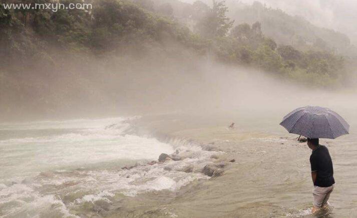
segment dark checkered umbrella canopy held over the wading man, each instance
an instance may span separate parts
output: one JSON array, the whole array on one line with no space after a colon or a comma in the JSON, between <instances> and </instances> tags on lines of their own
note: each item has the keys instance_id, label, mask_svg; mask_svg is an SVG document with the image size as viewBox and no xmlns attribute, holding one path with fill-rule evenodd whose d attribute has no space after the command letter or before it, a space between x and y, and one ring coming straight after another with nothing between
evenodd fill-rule
<instances>
[{"instance_id":1,"label":"dark checkered umbrella canopy held over the wading man","mask_svg":"<svg viewBox=\"0 0 357 218\"><path fill-rule=\"evenodd\" d=\"M291 111L280 123L289 133L307 138L337 138L348 134L348 123L336 112L323 107L306 106Z\"/></svg>"}]
</instances>

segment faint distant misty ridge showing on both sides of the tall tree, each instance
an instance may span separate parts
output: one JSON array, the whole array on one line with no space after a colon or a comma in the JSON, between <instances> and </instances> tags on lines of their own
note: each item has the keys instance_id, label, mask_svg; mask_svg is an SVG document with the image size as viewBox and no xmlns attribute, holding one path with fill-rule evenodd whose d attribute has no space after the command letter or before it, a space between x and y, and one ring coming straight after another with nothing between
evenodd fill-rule
<instances>
[{"instance_id":1,"label":"faint distant misty ridge showing on both sides of the tall tree","mask_svg":"<svg viewBox=\"0 0 357 218\"><path fill-rule=\"evenodd\" d=\"M136 0L150 2L150 0ZM192 27L197 8L204 10L212 5L212 0L193 1L193 4L182 3L179 0L159 0L152 2L151 9L160 11L159 8L171 6L170 15L186 25ZM219 1L218 1L219 2ZM316 27L304 18L291 16L280 9L268 8L265 5L254 2L246 5L236 0L226 0L228 7L227 16L234 20L235 25L261 24L262 33L274 39L278 45L290 45L300 51L329 51L342 56L356 57L357 49L351 45L345 34Z\"/></svg>"}]
</instances>

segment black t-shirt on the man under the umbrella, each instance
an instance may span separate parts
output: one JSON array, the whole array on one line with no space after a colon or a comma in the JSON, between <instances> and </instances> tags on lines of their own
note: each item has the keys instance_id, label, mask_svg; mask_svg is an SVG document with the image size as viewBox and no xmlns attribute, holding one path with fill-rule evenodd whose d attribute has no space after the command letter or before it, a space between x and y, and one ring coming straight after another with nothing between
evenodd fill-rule
<instances>
[{"instance_id":1,"label":"black t-shirt on the man under the umbrella","mask_svg":"<svg viewBox=\"0 0 357 218\"><path fill-rule=\"evenodd\" d=\"M314 185L329 187L334 184L332 160L325 146L319 145L312 151L310 164L311 171L317 172Z\"/></svg>"}]
</instances>

